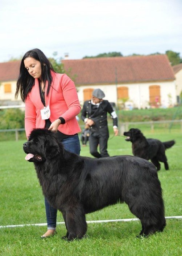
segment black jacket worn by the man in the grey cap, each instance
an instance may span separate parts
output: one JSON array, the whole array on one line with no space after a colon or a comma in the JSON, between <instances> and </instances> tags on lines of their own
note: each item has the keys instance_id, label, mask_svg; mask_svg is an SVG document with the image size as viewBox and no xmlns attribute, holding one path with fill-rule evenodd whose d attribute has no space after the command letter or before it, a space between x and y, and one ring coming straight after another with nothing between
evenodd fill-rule
<instances>
[{"instance_id":1,"label":"black jacket worn by the man in the grey cap","mask_svg":"<svg viewBox=\"0 0 182 256\"><path fill-rule=\"evenodd\" d=\"M107 113L114 111L108 100L103 100L99 107L93 111L91 107L91 100L86 100L83 104L83 109L81 112L81 119L84 121L85 118L92 119L95 125L91 126L90 134L102 134L109 136L109 130L107 126ZM96 106L96 105L93 105ZM113 118L113 126L118 126L118 118Z\"/></svg>"}]
</instances>

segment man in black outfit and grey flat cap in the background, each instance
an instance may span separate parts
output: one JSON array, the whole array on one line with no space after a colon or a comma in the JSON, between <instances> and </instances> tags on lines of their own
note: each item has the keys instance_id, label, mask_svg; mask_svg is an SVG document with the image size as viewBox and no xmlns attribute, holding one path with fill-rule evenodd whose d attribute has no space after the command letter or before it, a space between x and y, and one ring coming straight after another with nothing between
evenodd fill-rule
<instances>
[{"instance_id":1,"label":"man in black outfit and grey flat cap in the background","mask_svg":"<svg viewBox=\"0 0 182 256\"><path fill-rule=\"evenodd\" d=\"M109 139L109 129L107 126L107 112L113 118L113 130L118 135L118 118L101 89L95 89L92 99L86 100L83 104L81 119L90 126L89 147L90 154L94 157L108 157L107 141ZM99 145L100 153L97 151Z\"/></svg>"}]
</instances>

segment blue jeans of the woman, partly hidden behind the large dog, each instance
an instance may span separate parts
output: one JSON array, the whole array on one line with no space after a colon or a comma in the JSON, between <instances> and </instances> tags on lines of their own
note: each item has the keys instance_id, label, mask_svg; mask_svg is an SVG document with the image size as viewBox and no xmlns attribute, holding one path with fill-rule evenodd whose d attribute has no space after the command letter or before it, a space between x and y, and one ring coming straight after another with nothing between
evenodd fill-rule
<instances>
[{"instance_id":1,"label":"blue jeans of the woman, partly hidden behind the large dog","mask_svg":"<svg viewBox=\"0 0 182 256\"><path fill-rule=\"evenodd\" d=\"M78 134L69 136L66 139L63 139L62 144L64 148L72 153L80 155L80 140ZM56 219L57 219L57 209L53 208L48 200L45 198L45 210L47 218L47 228L55 230L56 229Z\"/></svg>"}]
</instances>

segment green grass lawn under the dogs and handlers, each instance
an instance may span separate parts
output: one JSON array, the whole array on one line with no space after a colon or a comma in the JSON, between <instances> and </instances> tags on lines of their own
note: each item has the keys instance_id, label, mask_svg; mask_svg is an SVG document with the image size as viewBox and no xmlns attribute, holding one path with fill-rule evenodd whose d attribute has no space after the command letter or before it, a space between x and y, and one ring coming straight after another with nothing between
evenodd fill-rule
<instances>
[{"instance_id":1,"label":"green grass lawn under the dogs and handlers","mask_svg":"<svg viewBox=\"0 0 182 256\"><path fill-rule=\"evenodd\" d=\"M141 128L142 129L142 128ZM182 215L182 133L169 132L167 129L150 133L147 138L161 141L175 139L176 144L166 151L169 169L161 170L158 177L163 188L166 209L165 216ZM45 223L45 209L42 190L39 185L33 163L24 160L21 141L0 142L0 225L20 225ZM110 156L131 155L131 143L123 136L113 137L108 141ZM89 146L81 147L81 156L90 156ZM136 218L126 204L116 204L86 215L86 220L110 220ZM57 222L63 222L59 212ZM47 240L40 236L46 226L25 226L0 228L0 255L73 255L73 256L133 256L133 255L182 255L181 235L182 220L167 219L162 233L149 238L136 238L141 225L139 221L89 223L86 238L67 242L61 239L66 233L65 225L57 226L57 235Z\"/></svg>"}]
</instances>

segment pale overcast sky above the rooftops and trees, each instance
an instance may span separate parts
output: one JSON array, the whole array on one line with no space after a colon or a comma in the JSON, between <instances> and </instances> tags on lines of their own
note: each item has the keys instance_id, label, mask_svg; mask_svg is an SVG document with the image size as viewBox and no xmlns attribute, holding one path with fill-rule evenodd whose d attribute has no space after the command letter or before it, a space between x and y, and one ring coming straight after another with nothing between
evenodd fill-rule
<instances>
[{"instance_id":1,"label":"pale overcast sky above the rooftops and trees","mask_svg":"<svg viewBox=\"0 0 182 256\"><path fill-rule=\"evenodd\" d=\"M47 57L179 52L182 0L0 0L0 62L39 48Z\"/></svg>"}]
</instances>

